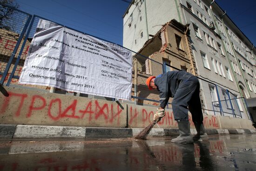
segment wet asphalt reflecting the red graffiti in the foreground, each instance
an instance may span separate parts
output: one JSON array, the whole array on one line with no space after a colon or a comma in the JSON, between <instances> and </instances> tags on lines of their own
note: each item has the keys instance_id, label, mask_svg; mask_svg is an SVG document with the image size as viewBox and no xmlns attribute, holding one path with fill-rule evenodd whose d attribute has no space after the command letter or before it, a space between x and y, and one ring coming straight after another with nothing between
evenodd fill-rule
<instances>
[{"instance_id":1,"label":"wet asphalt reflecting the red graffiti in the foreground","mask_svg":"<svg viewBox=\"0 0 256 171\"><path fill-rule=\"evenodd\" d=\"M188 145L170 137L0 139L0 171L256 171L256 135Z\"/></svg>"}]
</instances>

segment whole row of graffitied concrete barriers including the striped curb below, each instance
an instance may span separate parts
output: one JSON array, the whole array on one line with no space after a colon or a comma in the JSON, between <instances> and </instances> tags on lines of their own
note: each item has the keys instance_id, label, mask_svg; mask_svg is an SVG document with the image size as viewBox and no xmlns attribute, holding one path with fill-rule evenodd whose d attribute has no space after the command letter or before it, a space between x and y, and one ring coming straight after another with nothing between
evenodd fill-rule
<instances>
[{"instance_id":1,"label":"whole row of graffitied concrete barriers including the striped curb below","mask_svg":"<svg viewBox=\"0 0 256 171\"><path fill-rule=\"evenodd\" d=\"M1 138L132 137L148 126L155 107L7 87L0 94ZM256 133L247 119L203 115L208 134ZM191 133L195 125L189 113ZM158 127L159 126L159 127ZM149 136L178 135L172 109ZM85 131L87 130L87 131Z\"/></svg>"}]
</instances>

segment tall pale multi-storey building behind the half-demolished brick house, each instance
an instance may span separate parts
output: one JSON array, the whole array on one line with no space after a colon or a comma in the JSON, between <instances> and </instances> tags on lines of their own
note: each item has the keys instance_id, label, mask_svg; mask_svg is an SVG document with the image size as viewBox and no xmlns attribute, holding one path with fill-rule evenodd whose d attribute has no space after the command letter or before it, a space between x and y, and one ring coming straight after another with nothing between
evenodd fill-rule
<instances>
[{"instance_id":1,"label":"tall pale multi-storey building behind the half-demolished brick house","mask_svg":"<svg viewBox=\"0 0 256 171\"><path fill-rule=\"evenodd\" d=\"M194 74L209 81L201 81L204 112L249 118L237 98L256 97L256 48L214 0L133 0L123 15L123 46L140 53L172 19L189 24Z\"/></svg>"}]
</instances>

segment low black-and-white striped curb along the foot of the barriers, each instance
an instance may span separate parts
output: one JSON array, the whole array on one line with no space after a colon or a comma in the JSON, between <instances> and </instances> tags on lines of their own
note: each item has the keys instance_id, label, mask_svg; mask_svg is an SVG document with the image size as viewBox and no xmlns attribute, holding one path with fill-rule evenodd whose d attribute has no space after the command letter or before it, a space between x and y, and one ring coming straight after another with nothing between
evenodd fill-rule
<instances>
[{"instance_id":1,"label":"low black-and-white striped curb along the foot of the barriers","mask_svg":"<svg viewBox=\"0 0 256 171\"><path fill-rule=\"evenodd\" d=\"M130 138L142 128L105 128L47 125L1 125L0 138ZM209 135L256 134L252 129L206 129ZM191 129L191 134L196 134ZM177 136L178 129L153 128L148 136Z\"/></svg>"}]
</instances>

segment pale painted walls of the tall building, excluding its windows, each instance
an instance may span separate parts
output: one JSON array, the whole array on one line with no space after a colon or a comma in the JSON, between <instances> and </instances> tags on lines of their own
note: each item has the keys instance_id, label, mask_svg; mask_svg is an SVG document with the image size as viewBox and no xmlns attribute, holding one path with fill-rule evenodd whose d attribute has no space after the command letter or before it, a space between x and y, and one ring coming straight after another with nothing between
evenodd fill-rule
<instances>
[{"instance_id":1,"label":"pale painted walls of the tall building, excluding its windows","mask_svg":"<svg viewBox=\"0 0 256 171\"><path fill-rule=\"evenodd\" d=\"M202 78L208 79L210 82L215 83L216 85L221 86L224 89L228 89L233 94L238 95L238 97L241 97L240 92L238 90L238 86L236 85L235 76L238 81L242 82L243 85L246 85L244 79L248 79L249 82L253 85L256 85L256 78L254 75L249 75L246 71L240 70L241 75L239 75L236 72L232 72L231 64L228 60L228 55L230 57L230 60L237 64L237 59L240 59L246 66L249 67L250 70L254 71L254 74L256 75L256 66L255 66L255 54L250 55L248 52L246 52L246 49L249 50L249 47L246 47L245 43L241 39L238 38L238 36L234 34L234 36L231 34L232 28L228 28L230 31L230 34L226 33L225 24L222 23L222 20L219 18L219 14L215 14L214 9L213 12L211 12L209 4L212 0L176 0L178 4L178 9L175 5L175 0L144 0L143 3L138 3L136 5L132 5L129 9L128 14L124 17L124 31L123 31L123 46L127 47L128 49L131 49L135 52L139 51L141 47L144 45L144 43L148 40L147 36L147 28L148 28L148 34L155 35L157 31L161 29L161 25L172 20L179 20L179 15L181 17L182 24L189 23L189 29L190 29L190 37L191 37L191 43L193 48L193 55L195 57L195 63L196 67L198 69L198 74ZM137 1L135 1L137 2ZM147 8L147 22L146 22L146 12L145 12L145 3ZM194 14L191 14L186 10L185 8L188 7L187 3L189 3L192 6L192 11ZM181 5L184 5L185 7L181 7ZM208 8L208 12L206 8ZM198 12L197 12L198 11ZM178 13L179 12L179 13ZM129 17L133 13L133 21L131 22L131 26L128 26L129 23ZM203 16L203 18L202 18ZM141 17L141 20L140 20ZM201 19L200 19L201 18ZM237 50L243 54L243 56L236 55L236 51L234 51L233 47L230 47L230 53L226 53L225 51L225 45L222 42L222 39L220 39L214 32L210 30L210 23L215 23L215 18L219 21L218 24L215 24L215 32L220 34L222 39L229 43L230 46L232 46L231 42L235 45L235 47L238 47L240 50ZM193 27L193 23L198 26L198 30L201 34L199 39L195 36L195 29ZM206 23L206 26L204 23ZM136 28L135 28L136 24ZM160 25L160 26L158 26ZM222 25L222 26L221 26ZM218 27L219 26L219 27ZM143 32L143 37L141 38L141 32ZM212 44L211 47L208 45L207 40L203 34L203 32L207 33L213 40L215 46ZM229 39L230 38L230 39ZM136 39L136 44L135 44ZM150 37L149 37L150 39ZM241 44L242 42L242 44ZM222 50L224 55L221 54L217 43L219 43L222 46ZM210 44L210 43L209 43ZM237 49L237 48L236 48ZM205 53L208 58L209 68L205 68L202 63L202 57L201 53ZM248 58L246 59L245 54L247 54ZM225 74L225 77L223 74L216 73L214 70L214 65L212 64L212 60L217 61L219 64L222 64L222 68ZM227 72L225 70L225 66L229 68L232 81L228 79ZM243 73L243 75L242 75ZM247 87L245 87L247 89ZM203 100L205 102L206 108L212 109L212 100L209 93L209 85L205 81L201 82L201 90L203 92ZM247 91L247 90L245 90ZM252 87L252 91L249 92L251 97L256 97L256 92L254 92L254 89ZM224 99L222 96L222 92L219 92L221 100ZM241 104L243 106L243 102L241 101ZM245 111L245 109L243 109ZM209 114L214 114L213 112L209 112ZM243 118L248 118L243 113Z\"/></svg>"}]
</instances>

